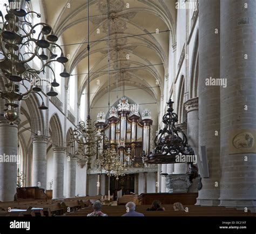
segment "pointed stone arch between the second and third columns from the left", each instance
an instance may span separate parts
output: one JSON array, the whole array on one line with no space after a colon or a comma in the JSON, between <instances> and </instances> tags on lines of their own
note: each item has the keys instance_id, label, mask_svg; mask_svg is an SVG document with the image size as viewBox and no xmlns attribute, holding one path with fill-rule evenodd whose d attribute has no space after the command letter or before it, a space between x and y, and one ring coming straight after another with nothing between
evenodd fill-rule
<instances>
[{"instance_id":1,"label":"pointed stone arch between the second and third columns from the left","mask_svg":"<svg viewBox=\"0 0 256 234\"><path fill-rule=\"evenodd\" d=\"M60 123L57 113L51 116L49 127L49 132L52 139L52 146L64 146L62 125Z\"/></svg>"}]
</instances>

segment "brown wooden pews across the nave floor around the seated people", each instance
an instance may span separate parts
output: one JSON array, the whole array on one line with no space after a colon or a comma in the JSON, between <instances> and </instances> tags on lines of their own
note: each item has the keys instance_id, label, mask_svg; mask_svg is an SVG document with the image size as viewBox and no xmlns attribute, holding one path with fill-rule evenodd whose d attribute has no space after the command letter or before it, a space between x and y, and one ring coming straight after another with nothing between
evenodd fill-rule
<instances>
[{"instance_id":1,"label":"brown wooden pews across the nave floor around the seated people","mask_svg":"<svg viewBox=\"0 0 256 234\"><path fill-rule=\"evenodd\" d=\"M134 201L134 196L125 195L118 198L117 205L102 196L86 196L66 198L62 200L24 199L15 202L0 202L0 216L87 216L93 211L92 204L102 200L102 211L108 216L122 216L126 212L125 204ZM136 201L134 201L136 202ZM141 203L140 203L141 204ZM174 211L172 204L164 204L165 211L146 211L149 204L139 203L136 211L145 216L256 216L255 213L244 212L235 208L198 207L184 204L185 211Z\"/></svg>"}]
</instances>

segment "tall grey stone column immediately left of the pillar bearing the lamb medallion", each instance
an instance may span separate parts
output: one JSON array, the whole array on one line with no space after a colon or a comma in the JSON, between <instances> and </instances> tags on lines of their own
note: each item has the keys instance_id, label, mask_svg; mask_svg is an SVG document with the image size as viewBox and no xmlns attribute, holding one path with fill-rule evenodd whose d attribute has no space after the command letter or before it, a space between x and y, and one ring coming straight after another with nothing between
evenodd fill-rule
<instances>
[{"instance_id":1,"label":"tall grey stone column immediately left of the pillar bearing the lamb medallion","mask_svg":"<svg viewBox=\"0 0 256 234\"><path fill-rule=\"evenodd\" d=\"M206 82L220 77L219 19L219 0L199 0L199 147L206 146L210 177L202 178L197 205L219 204L220 87Z\"/></svg>"}]
</instances>

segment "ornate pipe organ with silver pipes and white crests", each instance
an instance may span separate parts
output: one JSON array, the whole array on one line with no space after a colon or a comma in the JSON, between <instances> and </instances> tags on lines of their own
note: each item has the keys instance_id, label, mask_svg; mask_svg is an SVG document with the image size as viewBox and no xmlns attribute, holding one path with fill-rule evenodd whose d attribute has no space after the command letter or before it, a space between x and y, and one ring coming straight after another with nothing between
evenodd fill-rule
<instances>
[{"instance_id":1,"label":"ornate pipe organ with silver pipes and white crests","mask_svg":"<svg viewBox=\"0 0 256 234\"><path fill-rule=\"evenodd\" d=\"M129 104L128 99L122 97L117 107L110 108L108 121L105 113L98 113L96 127L102 129L107 138L102 142L103 148L106 142L111 143L126 167L138 168L144 167L144 152L150 153L152 123L149 109L140 114L138 104Z\"/></svg>"}]
</instances>

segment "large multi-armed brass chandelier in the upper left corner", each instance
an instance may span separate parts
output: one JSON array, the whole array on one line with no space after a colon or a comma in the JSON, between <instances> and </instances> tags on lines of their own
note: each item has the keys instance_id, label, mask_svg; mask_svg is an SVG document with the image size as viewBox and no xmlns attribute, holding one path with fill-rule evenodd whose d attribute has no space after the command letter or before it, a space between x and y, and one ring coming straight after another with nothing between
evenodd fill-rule
<instances>
[{"instance_id":1,"label":"large multi-armed brass chandelier in the upper left corner","mask_svg":"<svg viewBox=\"0 0 256 234\"><path fill-rule=\"evenodd\" d=\"M40 87L43 82L50 86L50 91L46 93L48 96L56 96L58 93L53 87L59 86L56 82L55 72L50 66L52 62L57 61L64 66L64 70L60 73L60 77L69 77L66 72L64 63L68 62L68 58L64 57L63 50L56 44L58 37L53 33L52 27L46 23L38 23L32 25L28 20L28 15L39 13L34 11L26 12L23 9L12 9L11 6L5 4L7 14L2 17L2 27L0 28L0 71L2 71L2 79L5 81L5 90L0 91L2 99L6 100L4 110L5 118L11 125L18 119L18 112L15 108L19 107L18 102L29 98L32 93L38 94L42 99L39 109L48 109L45 106ZM38 36L35 33L38 32ZM26 52L25 47L33 45L33 52ZM60 50L60 56L53 53L53 49ZM58 58L57 58L58 57ZM31 68L29 63L39 59L41 64L38 69ZM56 59L57 58L57 59ZM53 74L53 81L38 77L44 74L48 67Z\"/></svg>"}]
</instances>

